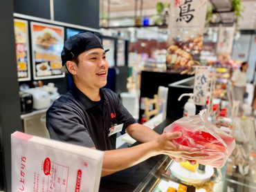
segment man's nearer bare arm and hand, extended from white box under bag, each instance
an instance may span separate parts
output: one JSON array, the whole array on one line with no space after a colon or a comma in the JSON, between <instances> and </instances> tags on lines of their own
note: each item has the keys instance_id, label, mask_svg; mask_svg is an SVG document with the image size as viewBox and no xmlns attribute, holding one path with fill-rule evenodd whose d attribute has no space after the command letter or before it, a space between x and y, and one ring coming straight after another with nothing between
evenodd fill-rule
<instances>
[{"instance_id":1,"label":"man's nearer bare arm and hand, extended from white box under bag","mask_svg":"<svg viewBox=\"0 0 256 192\"><path fill-rule=\"evenodd\" d=\"M207 155L200 153L202 149L177 144L173 140L181 137L181 132L165 133L156 140L112 151L104 151L102 176L127 169L155 155L170 155L175 158L196 160Z\"/></svg>"}]
</instances>

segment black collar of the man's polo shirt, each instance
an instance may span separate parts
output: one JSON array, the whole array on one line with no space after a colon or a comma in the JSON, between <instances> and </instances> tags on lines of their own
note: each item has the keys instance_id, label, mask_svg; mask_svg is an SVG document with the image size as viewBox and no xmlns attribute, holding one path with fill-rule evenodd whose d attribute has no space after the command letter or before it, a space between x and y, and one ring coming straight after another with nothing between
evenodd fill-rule
<instances>
[{"instance_id":1,"label":"black collar of the man's polo shirt","mask_svg":"<svg viewBox=\"0 0 256 192\"><path fill-rule=\"evenodd\" d=\"M75 84L72 85L71 90L73 92L73 96L83 106L84 110L92 108L93 106L97 106L97 104L95 104L95 102L93 102L91 99L89 99L89 97L84 95L84 93L82 93L82 91L79 90L75 86ZM103 98L102 98L103 104L106 103L106 102L109 102L109 100L107 98L107 95L106 95L105 91L102 90L102 88L100 88L100 95L103 96Z\"/></svg>"}]
</instances>

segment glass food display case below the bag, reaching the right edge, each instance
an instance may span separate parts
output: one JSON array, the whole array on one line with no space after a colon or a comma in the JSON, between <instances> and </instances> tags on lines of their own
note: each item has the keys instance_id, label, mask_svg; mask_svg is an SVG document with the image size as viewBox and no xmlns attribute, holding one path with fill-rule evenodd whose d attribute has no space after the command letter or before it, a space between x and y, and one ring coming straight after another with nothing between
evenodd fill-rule
<instances>
[{"instance_id":1,"label":"glass food display case below the bag, reaching the right edge","mask_svg":"<svg viewBox=\"0 0 256 192\"><path fill-rule=\"evenodd\" d=\"M233 117L236 148L225 166L214 169L177 163L164 156L135 191L221 192L256 190L256 137L253 118Z\"/></svg>"}]
</instances>

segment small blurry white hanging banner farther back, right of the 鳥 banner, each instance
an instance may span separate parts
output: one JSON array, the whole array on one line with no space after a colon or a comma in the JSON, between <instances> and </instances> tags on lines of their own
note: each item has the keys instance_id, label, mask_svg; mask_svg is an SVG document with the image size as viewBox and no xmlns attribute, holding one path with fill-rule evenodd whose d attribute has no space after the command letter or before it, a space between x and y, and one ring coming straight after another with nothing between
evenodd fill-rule
<instances>
[{"instance_id":1,"label":"small blurry white hanging banner farther back, right of the \u9ce5 banner","mask_svg":"<svg viewBox=\"0 0 256 192\"><path fill-rule=\"evenodd\" d=\"M235 35L235 26L219 28L217 55L231 55Z\"/></svg>"}]
</instances>

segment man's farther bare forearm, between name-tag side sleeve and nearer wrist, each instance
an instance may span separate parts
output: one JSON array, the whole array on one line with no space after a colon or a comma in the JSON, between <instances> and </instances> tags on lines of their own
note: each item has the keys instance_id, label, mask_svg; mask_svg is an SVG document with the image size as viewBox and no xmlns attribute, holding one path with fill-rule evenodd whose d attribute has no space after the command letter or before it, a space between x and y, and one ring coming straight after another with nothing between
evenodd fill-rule
<instances>
[{"instance_id":1,"label":"man's farther bare forearm, between name-tag side sleeve and nearer wrist","mask_svg":"<svg viewBox=\"0 0 256 192\"><path fill-rule=\"evenodd\" d=\"M127 126L126 132L139 143L150 142L159 137L158 133L142 124L131 124Z\"/></svg>"}]
</instances>

